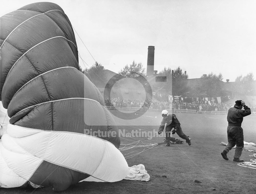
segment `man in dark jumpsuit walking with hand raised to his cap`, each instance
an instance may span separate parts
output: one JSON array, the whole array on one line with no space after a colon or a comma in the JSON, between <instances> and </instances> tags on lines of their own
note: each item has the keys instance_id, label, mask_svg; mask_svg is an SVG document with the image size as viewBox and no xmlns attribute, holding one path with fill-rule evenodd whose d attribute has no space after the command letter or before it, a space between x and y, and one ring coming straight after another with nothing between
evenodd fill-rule
<instances>
[{"instance_id":1,"label":"man in dark jumpsuit walking with hand raised to his cap","mask_svg":"<svg viewBox=\"0 0 256 194\"><path fill-rule=\"evenodd\" d=\"M236 150L234 154L234 162L243 162L243 159L240 159L243 149L243 129L241 124L243 122L243 117L251 114L251 109L245 105L245 102L242 100L235 101L235 106L228 110L228 144L225 149L221 152L221 156L228 160L227 153L236 145ZM242 110L244 108L244 110Z\"/></svg>"}]
</instances>

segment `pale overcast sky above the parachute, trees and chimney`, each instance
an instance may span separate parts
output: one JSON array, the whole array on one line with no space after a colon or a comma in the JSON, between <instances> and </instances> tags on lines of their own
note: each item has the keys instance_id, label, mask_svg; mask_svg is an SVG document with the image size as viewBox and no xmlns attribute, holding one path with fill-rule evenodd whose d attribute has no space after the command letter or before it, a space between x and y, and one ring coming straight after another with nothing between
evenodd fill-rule
<instances>
[{"instance_id":1,"label":"pale overcast sky above the parachute, trees and chimney","mask_svg":"<svg viewBox=\"0 0 256 194\"><path fill-rule=\"evenodd\" d=\"M2 1L0 16L40 1ZM254 0L72 0L49 1L68 16L82 69L95 61L118 73L133 60L147 67L155 46L154 70L186 71L223 80L253 73L256 80ZM84 63L83 63L84 61Z\"/></svg>"}]
</instances>

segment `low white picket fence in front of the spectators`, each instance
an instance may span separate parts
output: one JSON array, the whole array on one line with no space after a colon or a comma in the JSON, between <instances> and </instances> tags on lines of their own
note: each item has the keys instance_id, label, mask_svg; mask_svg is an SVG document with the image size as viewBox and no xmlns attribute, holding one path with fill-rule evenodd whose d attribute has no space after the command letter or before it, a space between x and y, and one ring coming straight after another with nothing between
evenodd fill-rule
<instances>
[{"instance_id":1,"label":"low white picket fence in front of the spectators","mask_svg":"<svg viewBox=\"0 0 256 194\"><path fill-rule=\"evenodd\" d=\"M155 112L160 112L162 110L159 110L159 109L153 109L153 108L140 108L140 107L120 107L120 108L116 108L116 107L105 107L109 110L127 110L127 111L138 111L138 110L141 110L141 111L155 111ZM197 111L197 110L193 110L193 109L166 109L168 110L169 112L173 112L173 113L176 113L176 112L180 112L180 113L198 113L198 114L228 114L228 111ZM256 112L252 112L252 115L256 115Z\"/></svg>"}]
</instances>

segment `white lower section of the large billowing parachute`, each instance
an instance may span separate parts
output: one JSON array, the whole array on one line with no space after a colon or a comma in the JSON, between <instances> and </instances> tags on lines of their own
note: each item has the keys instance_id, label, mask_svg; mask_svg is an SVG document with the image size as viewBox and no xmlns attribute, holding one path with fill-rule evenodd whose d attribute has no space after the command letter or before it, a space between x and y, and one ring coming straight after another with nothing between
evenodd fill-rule
<instances>
[{"instance_id":1,"label":"white lower section of the large billowing parachute","mask_svg":"<svg viewBox=\"0 0 256 194\"><path fill-rule=\"evenodd\" d=\"M0 154L0 174L4 177L1 180L5 180L0 185L7 188L22 186L43 161L93 177L84 181L115 182L128 174L127 162L112 143L79 133L8 124L0 142Z\"/></svg>"}]
</instances>

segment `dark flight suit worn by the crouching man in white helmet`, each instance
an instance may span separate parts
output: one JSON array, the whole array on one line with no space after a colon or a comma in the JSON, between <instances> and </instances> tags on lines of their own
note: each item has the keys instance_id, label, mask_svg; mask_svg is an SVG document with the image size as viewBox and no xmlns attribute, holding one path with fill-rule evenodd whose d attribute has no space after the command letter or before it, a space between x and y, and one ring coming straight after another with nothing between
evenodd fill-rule
<instances>
[{"instance_id":1,"label":"dark flight suit worn by the crouching man in white helmet","mask_svg":"<svg viewBox=\"0 0 256 194\"><path fill-rule=\"evenodd\" d=\"M175 114L169 114L167 116L166 119L162 119L161 121L161 124L159 126L159 130L158 132L159 133L162 133L164 131L164 126L166 124L166 127L165 127L165 140L166 140L166 143L170 143L170 132L172 130L172 128L176 129L176 133L178 134L178 136L182 139L186 139L188 140L188 136L186 136L181 127L180 127L180 122L179 120L177 119L176 115Z\"/></svg>"}]
</instances>

